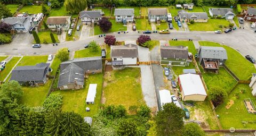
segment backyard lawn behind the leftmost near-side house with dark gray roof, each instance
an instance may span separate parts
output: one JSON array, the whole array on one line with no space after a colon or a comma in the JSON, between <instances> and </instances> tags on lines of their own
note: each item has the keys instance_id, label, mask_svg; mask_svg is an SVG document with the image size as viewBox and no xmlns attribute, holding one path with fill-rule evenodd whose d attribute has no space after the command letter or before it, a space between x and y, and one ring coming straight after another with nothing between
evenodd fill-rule
<instances>
[{"instance_id":1,"label":"backyard lawn behind the leftmost near-side house with dark gray roof","mask_svg":"<svg viewBox=\"0 0 256 136\"><path fill-rule=\"evenodd\" d=\"M24 93L20 103L30 107L41 106L47 96L51 83L52 80L48 80L43 86L22 87Z\"/></svg>"}]
</instances>

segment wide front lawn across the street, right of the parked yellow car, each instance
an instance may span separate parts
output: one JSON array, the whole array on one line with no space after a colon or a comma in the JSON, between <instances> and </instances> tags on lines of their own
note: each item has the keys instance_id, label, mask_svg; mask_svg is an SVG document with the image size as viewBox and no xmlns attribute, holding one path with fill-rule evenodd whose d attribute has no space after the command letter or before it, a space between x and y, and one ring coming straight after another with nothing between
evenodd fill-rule
<instances>
[{"instance_id":1,"label":"wide front lawn across the street, right of the parked yellow car","mask_svg":"<svg viewBox=\"0 0 256 136\"><path fill-rule=\"evenodd\" d=\"M229 21L225 19L209 19L208 22L195 22L194 24L190 24L190 31L215 31L220 30L219 25L229 27Z\"/></svg>"}]
</instances>

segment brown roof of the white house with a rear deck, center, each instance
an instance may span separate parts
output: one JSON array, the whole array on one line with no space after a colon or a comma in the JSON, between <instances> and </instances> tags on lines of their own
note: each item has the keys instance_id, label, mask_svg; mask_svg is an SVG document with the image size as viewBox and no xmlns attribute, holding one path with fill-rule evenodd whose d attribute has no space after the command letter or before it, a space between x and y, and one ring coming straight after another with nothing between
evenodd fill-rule
<instances>
[{"instance_id":1,"label":"brown roof of the white house with a rear deck, center","mask_svg":"<svg viewBox=\"0 0 256 136\"><path fill-rule=\"evenodd\" d=\"M138 47L134 44L111 46L111 57L138 57Z\"/></svg>"}]
</instances>

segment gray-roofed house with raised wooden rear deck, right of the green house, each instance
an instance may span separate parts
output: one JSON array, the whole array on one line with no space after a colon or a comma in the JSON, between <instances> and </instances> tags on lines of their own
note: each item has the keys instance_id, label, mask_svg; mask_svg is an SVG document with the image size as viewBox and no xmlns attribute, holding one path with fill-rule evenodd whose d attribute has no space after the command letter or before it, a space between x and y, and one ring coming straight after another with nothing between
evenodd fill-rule
<instances>
[{"instance_id":1,"label":"gray-roofed house with raised wooden rear deck, right of the green house","mask_svg":"<svg viewBox=\"0 0 256 136\"><path fill-rule=\"evenodd\" d=\"M205 70L216 72L219 70L219 65L226 62L228 56L223 47L201 46L197 58Z\"/></svg>"}]
</instances>

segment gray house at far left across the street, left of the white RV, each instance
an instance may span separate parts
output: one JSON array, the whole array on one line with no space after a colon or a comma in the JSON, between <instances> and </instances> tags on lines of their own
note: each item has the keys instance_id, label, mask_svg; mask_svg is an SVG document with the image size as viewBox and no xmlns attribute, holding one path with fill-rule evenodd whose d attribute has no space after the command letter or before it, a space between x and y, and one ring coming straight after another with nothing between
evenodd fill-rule
<instances>
[{"instance_id":1,"label":"gray house at far left across the street, left of the white RV","mask_svg":"<svg viewBox=\"0 0 256 136\"><path fill-rule=\"evenodd\" d=\"M28 17L8 17L3 22L12 25L11 29L17 32L28 32L31 27Z\"/></svg>"}]
</instances>

